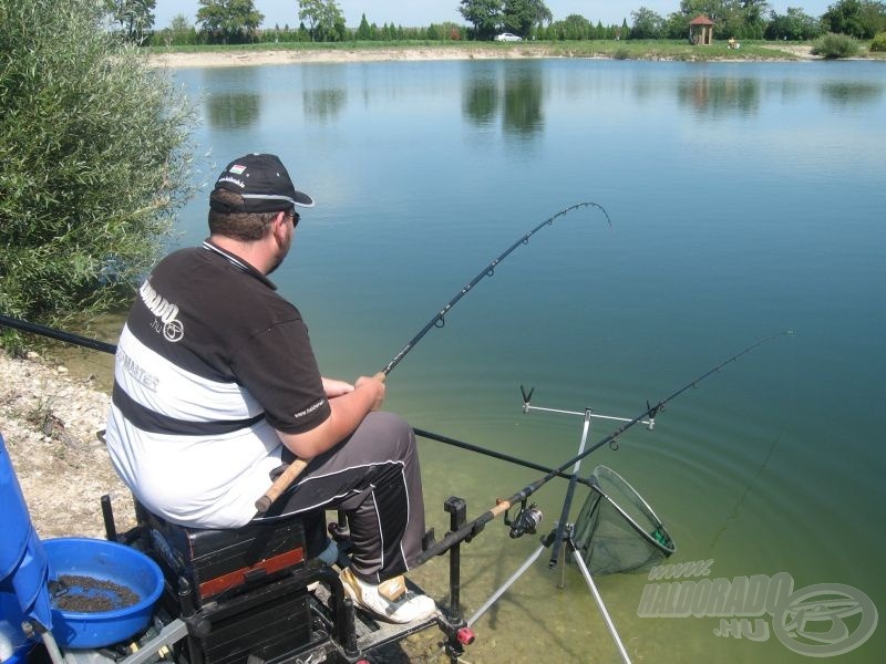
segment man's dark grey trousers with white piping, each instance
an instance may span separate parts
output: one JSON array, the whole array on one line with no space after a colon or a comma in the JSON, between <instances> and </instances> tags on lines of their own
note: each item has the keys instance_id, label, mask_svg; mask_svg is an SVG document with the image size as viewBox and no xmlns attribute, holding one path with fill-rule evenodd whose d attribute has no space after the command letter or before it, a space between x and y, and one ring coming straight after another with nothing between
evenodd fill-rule
<instances>
[{"instance_id":1,"label":"man's dark grey trousers with white piping","mask_svg":"<svg viewBox=\"0 0 886 664\"><path fill-rule=\"evenodd\" d=\"M284 461L293 458L285 448ZM409 424L392 413L370 413L350 437L315 457L265 518L319 509L348 516L358 578L380 583L414 567L422 551L424 501Z\"/></svg>"}]
</instances>

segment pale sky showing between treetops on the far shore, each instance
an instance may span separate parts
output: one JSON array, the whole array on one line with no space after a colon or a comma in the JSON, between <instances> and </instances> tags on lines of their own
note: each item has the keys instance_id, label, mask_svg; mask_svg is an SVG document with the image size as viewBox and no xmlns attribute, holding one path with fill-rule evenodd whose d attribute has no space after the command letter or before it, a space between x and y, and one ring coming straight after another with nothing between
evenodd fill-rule
<instances>
[{"instance_id":1,"label":"pale sky showing between treetops on the far shore","mask_svg":"<svg viewBox=\"0 0 886 664\"><path fill-rule=\"evenodd\" d=\"M770 7L779 13L784 13L789 7L800 7L812 17L820 17L827 11L828 6L836 0L789 0L772 1ZM602 21L604 24L621 23L627 19L631 23L630 12L646 7L656 13L667 17L680 8L680 0L545 0L554 20L565 19L577 13L591 22ZM296 0L255 0L258 11L265 14L265 27L275 24L290 27L298 25L298 2ZM360 24L362 14L367 14L370 23L379 25L395 23L404 27L430 25L443 21L464 23L459 13L459 0L338 0L338 6L344 14L346 23L356 28ZM190 23L195 22L197 0L157 0L155 11L155 28L165 28L169 20L179 13L187 17Z\"/></svg>"}]
</instances>

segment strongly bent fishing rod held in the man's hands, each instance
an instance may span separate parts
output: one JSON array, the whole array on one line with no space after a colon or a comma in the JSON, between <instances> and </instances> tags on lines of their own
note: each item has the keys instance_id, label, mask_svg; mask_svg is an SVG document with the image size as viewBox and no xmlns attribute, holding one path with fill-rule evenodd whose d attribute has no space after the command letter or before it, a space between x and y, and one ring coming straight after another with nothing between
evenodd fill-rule
<instances>
[{"instance_id":1,"label":"strongly bent fishing rod held in the man's hands","mask_svg":"<svg viewBox=\"0 0 886 664\"><path fill-rule=\"evenodd\" d=\"M405 357L415 345L424 339L424 335L427 334L433 328L442 328L445 325L446 314L452 310L455 304L459 303L459 300L464 298L467 293L470 293L473 288L480 283L486 277L493 277L495 274L495 268L501 263L505 258L507 258L511 252L513 252L517 247L521 245L528 245L529 238L532 238L536 232L542 230L545 226L553 226L554 221L556 221L559 217L563 217L569 214L571 210L584 208L584 207L594 207L600 210L604 216L606 216L606 221L609 224L609 227L612 226L612 220L609 218L609 212L606 211L601 205L596 204L594 201L584 201L584 203L576 203L575 205L570 205L567 208L562 209L559 212L554 215L553 217L548 217L544 221L542 221L538 226L533 228L529 232L521 236L521 238L511 245L507 249L505 249L497 258L493 259L490 264L483 268L476 277L474 277L470 282L467 282L462 290L460 290L452 300L446 302L446 304L441 309L430 321L422 328L415 336L413 336L406 345L404 345L396 355L394 355L391 361L382 369L379 373L375 374L375 378L379 381L384 382L394 367L400 364L400 362ZM301 474L305 467L308 465L308 461L305 459L296 459L292 461L287 469L280 474L280 476L274 481L271 487L265 491L265 495L261 496L258 500L256 500L256 510L258 510L259 515L265 513L270 509L270 506L274 504L280 495L289 488L289 486L295 481L295 479Z\"/></svg>"}]
</instances>

